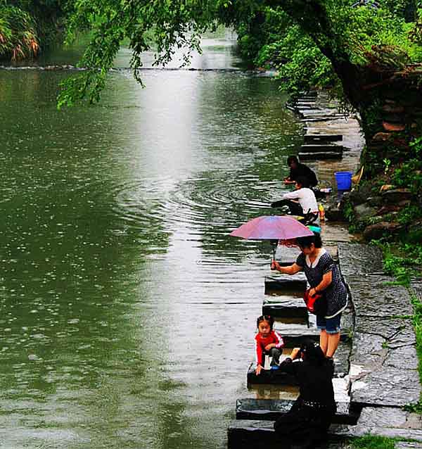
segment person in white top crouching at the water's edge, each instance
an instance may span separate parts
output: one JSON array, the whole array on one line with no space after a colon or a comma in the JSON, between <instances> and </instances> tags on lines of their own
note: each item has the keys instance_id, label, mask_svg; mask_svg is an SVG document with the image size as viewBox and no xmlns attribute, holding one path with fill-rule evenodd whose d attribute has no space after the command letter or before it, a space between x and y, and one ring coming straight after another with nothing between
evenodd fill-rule
<instances>
[{"instance_id":1,"label":"person in white top crouching at the water's edge","mask_svg":"<svg viewBox=\"0 0 422 449\"><path fill-rule=\"evenodd\" d=\"M295 184L295 190L284 194L280 201L271 203L271 208L279 208L287 205L292 215L308 217L308 222L314 222L318 218L318 203L314 191L309 189L309 183L305 177L299 177Z\"/></svg>"}]
</instances>

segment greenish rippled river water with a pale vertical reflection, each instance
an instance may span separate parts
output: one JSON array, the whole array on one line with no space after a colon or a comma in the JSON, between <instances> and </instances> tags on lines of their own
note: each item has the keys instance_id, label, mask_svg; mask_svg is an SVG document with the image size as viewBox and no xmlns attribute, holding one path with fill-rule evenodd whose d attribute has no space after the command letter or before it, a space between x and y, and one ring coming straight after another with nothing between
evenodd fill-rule
<instances>
[{"instance_id":1,"label":"greenish rippled river water with a pale vertical reflection","mask_svg":"<svg viewBox=\"0 0 422 449\"><path fill-rule=\"evenodd\" d=\"M241 67L204 44L193 67ZM269 77L119 70L58 111L67 75L0 71L0 447L225 448L271 255L228 234L302 126Z\"/></svg>"}]
</instances>

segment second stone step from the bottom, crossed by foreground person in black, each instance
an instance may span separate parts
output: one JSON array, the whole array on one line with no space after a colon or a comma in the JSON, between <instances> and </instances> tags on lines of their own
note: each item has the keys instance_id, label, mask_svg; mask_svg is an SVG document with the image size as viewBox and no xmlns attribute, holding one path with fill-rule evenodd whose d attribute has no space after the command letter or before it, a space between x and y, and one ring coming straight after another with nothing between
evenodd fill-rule
<instances>
[{"instance_id":1,"label":"second stone step from the bottom, crossed by foreground person in black","mask_svg":"<svg viewBox=\"0 0 422 449\"><path fill-rule=\"evenodd\" d=\"M236 419L275 421L285 415L294 400L245 398L236 401ZM338 402L333 424L356 424L360 409L351 410L350 402Z\"/></svg>"}]
</instances>

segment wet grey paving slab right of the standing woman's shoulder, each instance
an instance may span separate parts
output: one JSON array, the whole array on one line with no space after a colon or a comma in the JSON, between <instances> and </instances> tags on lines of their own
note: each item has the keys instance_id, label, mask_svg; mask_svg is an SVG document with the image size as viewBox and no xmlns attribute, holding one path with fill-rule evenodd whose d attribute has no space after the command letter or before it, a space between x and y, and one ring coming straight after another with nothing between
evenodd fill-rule
<instances>
[{"instance_id":1,"label":"wet grey paving slab right of the standing woman's shoulder","mask_svg":"<svg viewBox=\"0 0 422 449\"><path fill-rule=\"evenodd\" d=\"M349 277L383 273L383 253L376 246L365 244L338 244L340 270L348 281Z\"/></svg>"}]
</instances>

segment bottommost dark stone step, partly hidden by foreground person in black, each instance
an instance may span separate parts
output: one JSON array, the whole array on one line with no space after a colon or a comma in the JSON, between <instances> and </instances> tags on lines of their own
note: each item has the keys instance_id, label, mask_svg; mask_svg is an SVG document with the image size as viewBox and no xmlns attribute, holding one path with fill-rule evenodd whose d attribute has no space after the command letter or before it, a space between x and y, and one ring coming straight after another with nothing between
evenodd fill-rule
<instances>
[{"instance_id":1,"label":"bottommost dark stone step, partly hidden by foreground person in black","mask_svg":"<svg viewBox=\"0 0 422 449\"><path fill-rule=\"evenodd\" d=\"M342 439L349 436L348 426L333 424L329 431L330 439ZM338 435L340 432L340 435ZM283 444L274 431L274 421L252 421L237 419L232 421L227 432L228 449L269 449L290 448Z\"/></svg>"}]
</instances>

